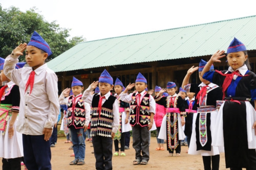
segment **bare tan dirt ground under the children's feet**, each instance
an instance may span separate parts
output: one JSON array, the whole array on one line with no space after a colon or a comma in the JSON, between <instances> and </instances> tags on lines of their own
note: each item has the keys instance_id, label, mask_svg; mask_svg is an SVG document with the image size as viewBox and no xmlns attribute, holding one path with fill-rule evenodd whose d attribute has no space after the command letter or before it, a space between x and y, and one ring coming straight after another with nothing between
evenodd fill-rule
<instances>
[{"instance_id":1,"label":"bare tan dirt ground under the children's feet","mask_svg":"<svg viewBox=\"0 0 256 170\"><path fill-rule=\"evenodd\" d=\"M66 138L58 138L55 148L52 150L52 169L95 169L95 157L91 152L93 148L91 147L92 143L86 141L86 164L84 165L69 165L69 162L74 159L70 157L73 150L69 150L71 146L70 143L64 143ZM135 151L132 147L132 137L130 143L130 149L125 150L125 157L116 156L113 157L113 169L201 169L203 170L203 161L202 157L199 155L188 155L186 150L187 146L181 147L181 156L180 157L168 157L168 151L166 151L166 144L164 144L165 151L156 151L157 140L156 137L151 137L150 145L150 160L147 165L133 165L133 160L135 160ZM113 143L113 153L114 153L114 143ZM175 155L175 154L174 154ZM2 161L0 163L2 167ZM24 167L22 167L24 169ZM224 153L220 155L220 170L225 168L225 157Z\"/></svg>"}]
</instances>

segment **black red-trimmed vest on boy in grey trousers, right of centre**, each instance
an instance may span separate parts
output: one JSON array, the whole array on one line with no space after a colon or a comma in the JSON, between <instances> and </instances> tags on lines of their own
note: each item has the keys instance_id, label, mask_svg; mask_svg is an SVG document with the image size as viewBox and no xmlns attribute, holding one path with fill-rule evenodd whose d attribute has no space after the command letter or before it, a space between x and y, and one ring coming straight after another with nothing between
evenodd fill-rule
<instances>
[{"instance_id":1,"label":"black red-trimmed vest on boy in grey trousers, right of centre","mask_svg":"<svg viewBox=\"0 0 256 170\"><path fill-rule=\"evenodd\" d=\"M141 127L144 127L150 123L150 94L146 93L141 98L143 99L140 106L138 106L136 93L132 94L132 102L130 104L130 124L132 126L139 124Z\"/></svg>"}]
</instances>

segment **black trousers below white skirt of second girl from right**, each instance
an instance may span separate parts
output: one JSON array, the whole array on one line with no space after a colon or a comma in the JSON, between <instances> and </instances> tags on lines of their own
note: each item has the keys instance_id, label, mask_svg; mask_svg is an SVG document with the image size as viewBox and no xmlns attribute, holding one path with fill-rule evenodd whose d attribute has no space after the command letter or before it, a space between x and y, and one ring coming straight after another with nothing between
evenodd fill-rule
<instances>
[{"instance_id":1,"label":"black trousers below white skirt of second girl from right","mask_svg":"<svg viewBox=\"0 0 256 170\"><path fill-rule=\"evenodd\" d=\"M204 170L219 170L220 155L203 156Z\"/></svg>"}]
</instances>

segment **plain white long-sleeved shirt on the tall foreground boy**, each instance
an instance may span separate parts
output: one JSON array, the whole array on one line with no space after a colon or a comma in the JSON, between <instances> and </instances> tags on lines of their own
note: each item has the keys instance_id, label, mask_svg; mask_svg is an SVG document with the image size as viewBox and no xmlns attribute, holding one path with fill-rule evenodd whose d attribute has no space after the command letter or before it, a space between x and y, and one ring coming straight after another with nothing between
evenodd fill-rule
<instances>
[{"instance_id":1,"label":"plain white long-sleeved shirt on the tall foreground boy","mask_svg":"<svg viewBox=\"0 0 256 170\"><path fill-rule=\"evenodd\" d=\"M19 86L20 105L16 125L18 132L26 135L42 135L44 128L53 128L59 114L58 78L47 64L35 69L33 90L25 92L32 67L15 69L19 56L5 59L6 77Z\"/></svg>"}]
</instances>

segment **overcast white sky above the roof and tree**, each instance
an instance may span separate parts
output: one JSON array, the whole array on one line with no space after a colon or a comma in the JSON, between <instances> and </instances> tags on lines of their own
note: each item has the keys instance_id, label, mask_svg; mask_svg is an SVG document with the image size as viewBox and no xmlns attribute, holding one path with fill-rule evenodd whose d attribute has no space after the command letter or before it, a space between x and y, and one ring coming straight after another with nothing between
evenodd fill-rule
<instances>
[{"instance_id":1,"label":"overcast white sky above the roof and tree","mask_svg":"<svg viewBox=\"0 0 256 170\"><path fill-rule=\"evenodd\" d=\"M256 15L254 0L0 0L25 12L37 13L61 28L72 29L71 37L87 41L145 32L173 29Z\"/></svg>"}]
</instances>

